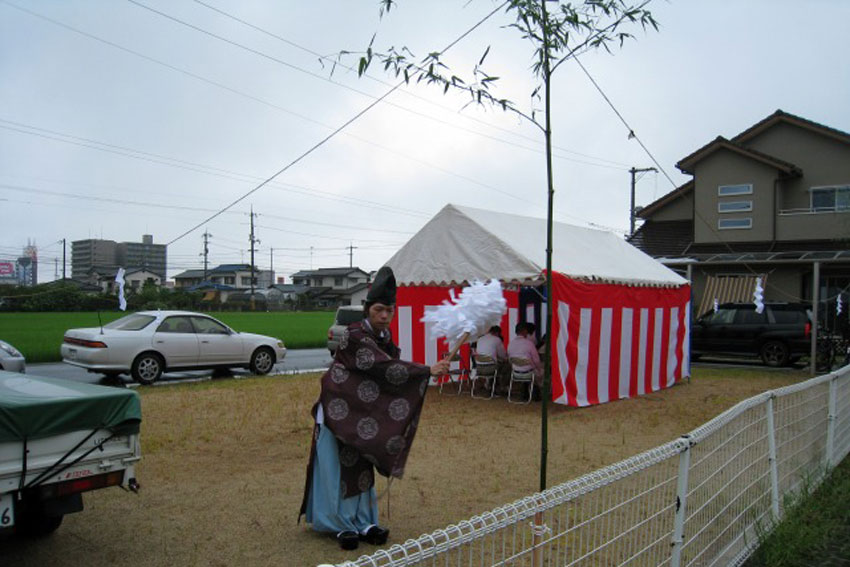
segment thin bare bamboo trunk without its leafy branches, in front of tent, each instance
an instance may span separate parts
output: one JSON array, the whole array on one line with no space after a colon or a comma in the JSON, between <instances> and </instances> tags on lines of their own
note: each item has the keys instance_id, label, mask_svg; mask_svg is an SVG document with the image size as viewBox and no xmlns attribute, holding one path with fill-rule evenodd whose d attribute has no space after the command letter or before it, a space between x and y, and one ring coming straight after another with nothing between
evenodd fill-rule
<instances>
[{"instance_id":1,"label":"thin bare bamboo trunk without its leafy branches, in front of tent","mask_svg":"<svg viewBox=\"0 0 850 567\"><path fill-rule=\"evenodd\" d=\"M548 208L546 211L546 349L543 362L543 392L540 402L540 492L546 490L546 463L549 458L549 399L552 397L552 210L555 197L552 182L552 122L550 105L549 38L546 0L540 0L541 28L543 32L543 83L546 127L546 183Z\"/></svg>"}]
</instances>

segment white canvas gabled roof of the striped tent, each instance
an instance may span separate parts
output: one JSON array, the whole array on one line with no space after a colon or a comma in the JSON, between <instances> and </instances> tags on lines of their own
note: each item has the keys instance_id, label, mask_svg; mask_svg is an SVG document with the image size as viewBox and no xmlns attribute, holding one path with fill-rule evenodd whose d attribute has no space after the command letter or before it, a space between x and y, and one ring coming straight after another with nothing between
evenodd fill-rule
<instances>
[{"instance_id":1,"label":"white canvas gabled roof of the striped tent","mask_svg":"<svg viewBox=\"0 0 850 567\"><path fill-rule=\"evenodd\" d=\"M546 220L446 205L387 265L399 285L542 281ZM552 269L573 279L679 286L687 280L611 232L554 223Z\"/></svg>"}]
</instances>

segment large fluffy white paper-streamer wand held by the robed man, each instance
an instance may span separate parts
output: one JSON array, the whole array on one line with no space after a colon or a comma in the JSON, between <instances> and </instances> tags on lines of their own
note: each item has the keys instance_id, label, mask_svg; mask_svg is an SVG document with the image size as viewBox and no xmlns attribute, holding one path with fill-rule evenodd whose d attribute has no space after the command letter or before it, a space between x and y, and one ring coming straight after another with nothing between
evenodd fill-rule
<instances>
[{"instance_id":1,"label":"large fluffy white paper-streamer wand held by the robed man","mask_svg":"<svg viewBox=\"0 0 850 567\"><path fill-rule=\"evenodd\" d=\"M455 297L449 290L451 301L444 301L433 311L422 317L423 323L433 323L431 338L446 337L450 347L454 347L465 333L474 341L487 333L493 325L498 325L507 310L502 285L498 280L484 284L472 282Z\"/></svg>"}]
</instances>

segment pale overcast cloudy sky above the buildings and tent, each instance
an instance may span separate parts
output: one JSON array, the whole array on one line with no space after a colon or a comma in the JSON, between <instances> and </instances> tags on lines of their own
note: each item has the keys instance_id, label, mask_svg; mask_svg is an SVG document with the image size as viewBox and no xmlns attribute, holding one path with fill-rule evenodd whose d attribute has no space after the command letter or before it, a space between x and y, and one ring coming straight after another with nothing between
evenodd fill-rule
<instances>
[{"instance_id":1,"label":"pale overcast cloudy sky above the buildings and tent","mask_svg":"<svg viewBox=\"0 0 850 567\"><path fill-rule=\"evenodd\" d=\"M377 269L447 203L544 217L542 136L516 115L416 85L334 134L395 82L340 52L374 35L421 57L482 20L445 60L468 77L490 46L494 92L539 109L531 47L504 12L487 18L497 6L401 0L381 19L377 0L0 0L0 259L34 241L44 282L62 239L70 274L71 241L152 234L173 277L202 267L206 231L212 265L248 262L253 207L257 264L288 282L350 252ZM630 167L663 170L638 181L648 204L688 179L681 158L776 109L850 131L850 2L650 9L658 32L581 57L628 127L579 65L554 76L556 220L624 234Z\"/></svg>"}]
</instances>

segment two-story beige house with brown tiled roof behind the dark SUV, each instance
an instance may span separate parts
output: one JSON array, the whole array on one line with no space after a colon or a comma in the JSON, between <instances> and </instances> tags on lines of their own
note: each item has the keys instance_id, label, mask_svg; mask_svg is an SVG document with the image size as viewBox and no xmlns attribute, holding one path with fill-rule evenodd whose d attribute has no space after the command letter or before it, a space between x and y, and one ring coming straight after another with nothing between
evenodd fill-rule
<instances>
[{"instance_id":1,"label":"two-story beige house with brown tiled roof behind the dark SUV","mask_svg":"<svg viewBox=\"0 0 850 567\"><path fill-rule=\"evenodd\" d=\"M850 303L850 134L777 110L676 167L693 179L641 209L645 222L630 242L691 275L695 315L715 300L751 301L761 278L766 301L817 296L821 321L841 323L838 296Z\"/></svg>"}]
</instances>

